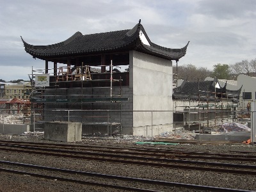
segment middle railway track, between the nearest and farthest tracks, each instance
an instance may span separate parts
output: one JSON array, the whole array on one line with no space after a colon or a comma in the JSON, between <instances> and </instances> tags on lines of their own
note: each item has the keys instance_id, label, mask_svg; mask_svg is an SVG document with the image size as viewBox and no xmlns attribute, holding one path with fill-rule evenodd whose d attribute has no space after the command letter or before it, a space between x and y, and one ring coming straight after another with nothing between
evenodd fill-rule
<instances>
[{"instance_id":1,"label":"middle railway track, between the nearest and farthest tracks","mask_svg":"<svg viewBox=\"0 0 256 192\"><path fill-rule=\"evenodd\" d=\"M15 145L6 145L6 146L16 147ZM17 148L4 148L4 147L0 147L0 149L10 150L15 152L26 152L29 154L42 154L47 156L68 157L68 158L86 159L86 160L93 160L93 161L104 161L104 162L108 161L113 163L138 164L138 165L144 165L144 166L167 167L167 168L176 168L176 169L180 168L180 169L186 169L186 170L256 175L256 171L255 171L256 166L254 165L214 163L214 162L204 162L204 161L188 161L188 160L180 160L180 159L164 159L164 158L143 157L143 156L141 157L140 156L124 156L124 155L118 155L118 154L76 152L74 150L62 151L62 150L56 150L56 149L47 149L46 151L45 148L38 148L38 147L24 147L24 146L17 146L17 147L22 148L22 150ZM29 148L29 150L26 148ZM195 164L195 165L190 165L190 164ZM199 166L199 165L203 165L203 166ZM220 166L225 168L220 168ZM247 170L239 170L238 169L239 167L241 169L246 168ZM236 169L232 169L232 168L236 168Z\"/></svg>"}]
</instances>

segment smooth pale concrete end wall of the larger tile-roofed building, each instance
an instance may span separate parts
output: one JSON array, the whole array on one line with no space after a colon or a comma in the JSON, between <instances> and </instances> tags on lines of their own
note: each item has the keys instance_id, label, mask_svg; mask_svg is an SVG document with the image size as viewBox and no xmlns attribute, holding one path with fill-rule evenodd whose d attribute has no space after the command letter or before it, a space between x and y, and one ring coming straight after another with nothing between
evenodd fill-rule
<instances>
[{"instance_id":1,"label":"smooth pale concrete end wall of the larger tile-roofed building","mask_svg":"<svg viewBox=\"0 0 256 192\"><path fill-rule=\"evenodd\" d=\"M172 61L130 51L129 79L134 111L172 111ZM151 125L151 122L172 124L172 116L154 113L152 119L148 112L134 112L133 127Z\"/></svg>"}]
</instances>

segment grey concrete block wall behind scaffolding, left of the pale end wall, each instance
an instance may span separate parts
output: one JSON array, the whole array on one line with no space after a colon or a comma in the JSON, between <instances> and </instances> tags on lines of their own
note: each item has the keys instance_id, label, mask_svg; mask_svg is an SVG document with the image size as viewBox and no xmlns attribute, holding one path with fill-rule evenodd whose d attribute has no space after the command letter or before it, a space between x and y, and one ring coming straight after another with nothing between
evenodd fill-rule
<instances>
[{"instance_id":1,"label":"grey concrete block wall behind scaffolding, left of the pale end wall","mask_svg":"<svg viewBox=\"0 0 256 192\"><path fill-rule=\"evenodd\" d=\"M69 89L57 89L57 90L46 90L45 95L63 95L61 99L65 98L81 98L81 88L69 88ZM110 88L83 88L83 94L86 98L102 98L110 97ZM120 87L115 86L112 90L113 95L120 95ZM65 96L64 96L65 95ZM97 96L99 95L99 96ZM46 96L47 97L47 96ZM70 121L70 122L83 122L92 123L121 123L122 126L132 127L132 89L129 86L122 87L122 97L129 98L128 101L124 102L77 102L77 103L46 103L45 105L45 122L47 121ZM49 96L49 98L54 98ZM81 108L83 111L81 111ZM74 109L76 111L54 111L51 109ZM120 111L97 111L97 110L127 110L123 113ZM88 111L87 111L88 110ZM92 111L90 111L92 110ZM69 118L68 118L69 116ZM109 118L108 118L109 117ZM110 118L111 117L111 118ZM121 119L122 118L122 119ZM87 126L88 127L88 126Z\"/></svg>"}]
</instances>

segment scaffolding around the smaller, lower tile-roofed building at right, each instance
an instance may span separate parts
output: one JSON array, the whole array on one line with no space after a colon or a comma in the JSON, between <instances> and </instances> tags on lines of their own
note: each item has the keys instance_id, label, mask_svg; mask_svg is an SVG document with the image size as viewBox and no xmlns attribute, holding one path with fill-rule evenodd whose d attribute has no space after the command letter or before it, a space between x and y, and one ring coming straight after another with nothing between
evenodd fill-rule
<instances>
[{"instance_id":1,"label":"scaffolding around the smaller, lower tile-roofed building at right","mask_svg":"<svg viewBox=\"0 0 256 192\"><path fill-rule=\"evenodd\" d=\"M210 95L214 95L214 97L210 97ZM220 96L218 97L218 95ZM200 90L198 83L197 98L184 99L182 105L177 104L180 100L174 100L174 113L182 114L184 127L189 131L191 131L191 126L195 125L197 128L198 124L200 127L216 129L220 124L237 120L240 103L233 102L237 97L239 95L216 92L216 88L214 92Z\"/></svg>"}]
</instances>

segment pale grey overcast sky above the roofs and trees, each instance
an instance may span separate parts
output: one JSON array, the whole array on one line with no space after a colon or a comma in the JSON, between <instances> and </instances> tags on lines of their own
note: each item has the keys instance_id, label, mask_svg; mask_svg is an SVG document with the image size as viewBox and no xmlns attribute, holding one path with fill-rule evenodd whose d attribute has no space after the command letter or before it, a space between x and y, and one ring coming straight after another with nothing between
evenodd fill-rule
<instances>
[{"instance_id":1,"label":"pale grey overcast sky above the roofs and trees","mask_svg":"<svg viewBox=\"0 0 256 192\"><path fill-rule=\"evenodd\" d=\"M151 42L181 48L178 65L212 70L256 58L255 0L0 0L0 79L28 80L43 60L24 51L20 36L33 45L133 28L141 19ZM50 63L50 68L51 63Z\"/></svg>"}]
</instances>

